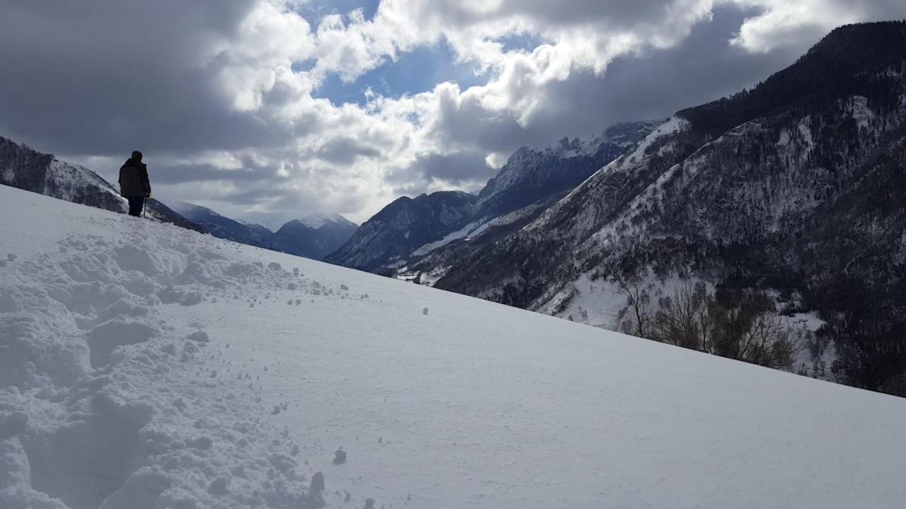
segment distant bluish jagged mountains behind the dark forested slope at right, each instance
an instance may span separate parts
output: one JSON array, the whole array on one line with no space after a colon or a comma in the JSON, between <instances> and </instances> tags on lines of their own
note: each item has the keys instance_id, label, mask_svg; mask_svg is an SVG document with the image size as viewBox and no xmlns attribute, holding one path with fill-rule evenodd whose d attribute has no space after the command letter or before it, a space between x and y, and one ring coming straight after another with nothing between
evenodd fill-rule
<instances>
[{"instance_id":1,"label":"distant bluish jagged mountains behind the dark forested slope at right","mask_svg":"<svg viewBox=\"0 0 906 509\"><path fill-rule=\"evenodd\" d=\"M644 138L655 122L618 124L590 141L523 147L477 194L400 197L365 222L326 262L429 282L463 250L511 233Z\"/></svg>"}]
</instances>

